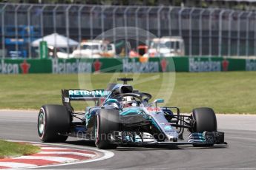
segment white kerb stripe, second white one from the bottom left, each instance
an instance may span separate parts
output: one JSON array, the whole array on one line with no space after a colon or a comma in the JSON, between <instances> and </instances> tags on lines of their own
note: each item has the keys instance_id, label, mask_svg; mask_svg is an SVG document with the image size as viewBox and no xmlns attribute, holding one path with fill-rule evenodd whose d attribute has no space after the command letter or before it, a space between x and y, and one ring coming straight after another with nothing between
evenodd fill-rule
<instances>
[{"instance_id":1,"label":"white kerb stripe, second white one from the bottom left","mask_svg":"<svg viewBox=\"0 0 256 170\"><path fill-rule=\"evenodd\" d=\"M77 159L74 158L69 158L69 157L53 157L53 156L22 156L22 157L15 157L13 159L40 159L40 160L50 160L50 161L56 161L59 163L70 163L74 161L78 161Z\"/></svg>"}]
</instances>

